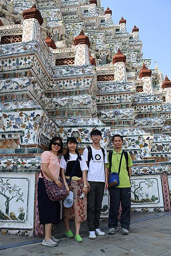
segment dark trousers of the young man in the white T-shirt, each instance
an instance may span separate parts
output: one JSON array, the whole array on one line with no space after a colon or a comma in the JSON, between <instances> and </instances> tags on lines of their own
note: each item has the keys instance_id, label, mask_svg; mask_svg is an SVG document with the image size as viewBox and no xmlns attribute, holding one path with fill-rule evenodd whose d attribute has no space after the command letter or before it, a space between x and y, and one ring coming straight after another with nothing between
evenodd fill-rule
<instances>
[{"instance_id":1,"label":"dark trousers of the young man in the white T-shirt","mask_svg":"<svg viewBox=\"0 0 171 256\"><path fill-rule=\"evenodd\" d=\"M87 194L87 224L89 231L96 231L96 228L99 228L104 182L88 181L88 183L90 192Z\"/></svg>"}]
</instances>

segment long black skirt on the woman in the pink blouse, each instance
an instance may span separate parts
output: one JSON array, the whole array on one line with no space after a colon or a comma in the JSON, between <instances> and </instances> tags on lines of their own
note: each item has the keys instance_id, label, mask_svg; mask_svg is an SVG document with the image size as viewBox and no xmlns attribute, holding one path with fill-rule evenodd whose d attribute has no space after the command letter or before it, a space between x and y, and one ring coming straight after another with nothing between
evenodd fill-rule
<instances>
[{"instance_id":1,"label":"long black skirt on the woman in the pink blouse","mask_svg":"<svg viewBox=\"0 0 171 256\"><path fill-rule=\"evenodd\" d=\"M60 222L60 202L51 201L42 178L38 179L38 211L40 224Z\"/></svg>"}]
</instances>

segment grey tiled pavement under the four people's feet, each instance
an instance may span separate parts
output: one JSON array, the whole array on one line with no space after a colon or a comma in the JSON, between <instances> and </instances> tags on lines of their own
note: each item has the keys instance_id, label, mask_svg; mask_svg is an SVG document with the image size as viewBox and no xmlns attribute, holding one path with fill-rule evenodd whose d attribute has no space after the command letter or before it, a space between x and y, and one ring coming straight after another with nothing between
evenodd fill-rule
<instances>
[{"instance_id":1,"label":"grey tiled pavement under the four people's feet","mask_svg":"<svg viewBox=\"0 0 171 256\"><path fill-rule=\"evenodd\" d=\"M58 247L42 246L35 238L0 235L0 248L9 244L16 246L20 242L34 242L0 250L0 256L171 256L171 214L165 214L167 213L133 214L128 236L122 235L120 227L115 235L109 236L105 230L106 236L97 236L96 240L88 239L86 232L82 235L82 243L63 238ZM144 219L146 220L143 221Z\"/></svg>"}]
</instances>

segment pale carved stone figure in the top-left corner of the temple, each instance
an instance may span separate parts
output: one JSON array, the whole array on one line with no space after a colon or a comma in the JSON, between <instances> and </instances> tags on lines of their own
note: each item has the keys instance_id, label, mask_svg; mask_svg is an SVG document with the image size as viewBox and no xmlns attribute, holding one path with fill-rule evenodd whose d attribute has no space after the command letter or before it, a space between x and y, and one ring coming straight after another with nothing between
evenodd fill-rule
<instances>
[{"instance_id":1,"label":"pale carved stone figure in the top-left corner of the temple","mask_svg":"<svg viewBox=\"0 0 171 256\"><path fill-rule=\"evenodd\" d=\"M3 25L12 25L14 24L14 19L19 19L20 14L18 13L17 15L13 14L14 12L14 6L13 6L13 1L7 5L6 9L3 9L2 6L0 6L0 13L4 15L4 17L0 17L1 22Z\"/></svg>"}]
</instances>

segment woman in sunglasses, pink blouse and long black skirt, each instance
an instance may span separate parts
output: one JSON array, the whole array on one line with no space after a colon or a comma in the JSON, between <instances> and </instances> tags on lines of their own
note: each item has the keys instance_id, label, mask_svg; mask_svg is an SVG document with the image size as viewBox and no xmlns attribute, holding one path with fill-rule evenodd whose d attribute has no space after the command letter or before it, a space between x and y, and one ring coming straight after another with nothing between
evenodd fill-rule
<instances>
[{"instance_id":1,"label":"woman in sunglasses, pink blouse and long black skirt","mask_svg":"<svg viewBox=\"0 0 171 256\"><path fill-rule=\"evenodd\" d=\"M59 187L62 187L62 184L58 180L60 161L57 154L62 153L62 150L63 143L61 138L54 137L49 143L49 151L44 151L41 155L43 176L47 180L54 181ZM45 225L45 238L42 244L50 247L57 246L59 240L55 239L51 232L52 224L57 224L60 221L60 202L49 199L41 173L38 179L38 211L40 224Z\"/></svg>"}]
</instances>

